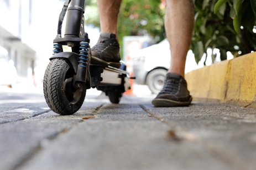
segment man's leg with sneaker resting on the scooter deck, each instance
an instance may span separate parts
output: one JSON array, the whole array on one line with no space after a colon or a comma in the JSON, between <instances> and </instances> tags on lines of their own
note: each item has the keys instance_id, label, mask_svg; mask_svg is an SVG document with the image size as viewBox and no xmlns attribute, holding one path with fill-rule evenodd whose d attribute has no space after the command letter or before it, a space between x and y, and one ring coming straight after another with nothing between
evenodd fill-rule
<instances>
[{"instance_id":1,"label":"man's leg with sneaker resting on the scooter deck","mask_svg":"<svg viewBox=\"0 0 256 170\"><path fill-rule=\"evenodd\" d=\"M102 33L97 44L92 47L92 57L100 58L105 62L120 61L117 18L121 1L122 0L97 1Z\"/></svg>"}]
</instances>

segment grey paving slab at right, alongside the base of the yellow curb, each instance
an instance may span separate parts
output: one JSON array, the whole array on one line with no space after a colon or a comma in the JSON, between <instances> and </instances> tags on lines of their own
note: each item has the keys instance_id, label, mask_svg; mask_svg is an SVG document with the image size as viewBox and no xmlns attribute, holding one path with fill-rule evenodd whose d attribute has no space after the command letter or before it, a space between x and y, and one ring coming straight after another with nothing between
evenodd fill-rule
<instances>
[{"instance_id":1,"label":"grey paving slab at right, alongside the base of the yellow curb","mask_svg":"<svg viewBox=\"0 0 256 170\"><path fill-rule=\"evenodd\" d=\"M202 141L207 149L220 157L230 156L232 163L239 160L244 168L256 167L256 142L252 136L256 133L255 110L232 105L197 103L189 107L154 108L146 107L160 117L166 118L177 127L190 131ZM241 116L243 113L244 116ZM246 117L247 119L244 119Z\"/></svg>"}]
</instances>

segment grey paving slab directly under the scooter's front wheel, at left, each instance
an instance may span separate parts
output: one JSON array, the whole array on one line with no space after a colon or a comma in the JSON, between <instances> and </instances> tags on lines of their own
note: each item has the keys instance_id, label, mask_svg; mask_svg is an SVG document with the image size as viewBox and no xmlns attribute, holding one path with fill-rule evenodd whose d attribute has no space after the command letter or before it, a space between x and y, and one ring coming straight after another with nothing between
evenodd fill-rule
<instances>
[{"instance_id":1,"label":"grey paving slab directly under the scooter's front wheel, at left","mask_svg":"<svg viewBox=\"0 0 256 170\"><path fill-rule=\"evenodd\" d=\"M82 116L100 105L83 106L86 112L81 110L73 116L60 116L50 111L22 121L0 124L0 160L4 162L0 163L0 169L15 169L40 150L41 144L82 122Z\"/></svg>"}]
</instances>

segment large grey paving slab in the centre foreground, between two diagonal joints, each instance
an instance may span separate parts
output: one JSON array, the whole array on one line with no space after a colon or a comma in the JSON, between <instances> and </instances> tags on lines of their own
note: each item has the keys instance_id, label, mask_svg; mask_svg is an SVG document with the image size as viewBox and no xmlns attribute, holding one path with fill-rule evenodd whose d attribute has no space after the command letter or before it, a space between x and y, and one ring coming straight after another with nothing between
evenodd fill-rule
<instances>
[{"instance_id":1,"label":"large grey paving slab in the centre foreground, between two diagonal joints","mask_svg":"<svg viewBox=\"0 0 256 170\"><path fill-rule=\"evenodd\" d=\"M138 105L104 105L19 169L232 169L200 144L171 140L147 115Z\"/></svg>"}]
</instances>

